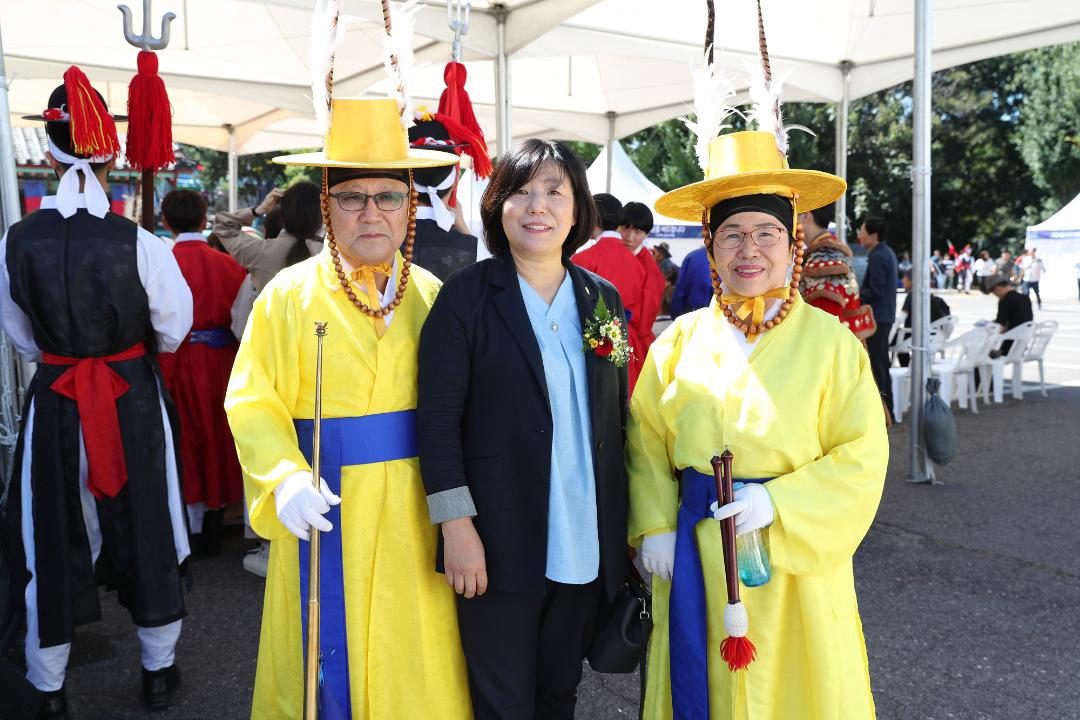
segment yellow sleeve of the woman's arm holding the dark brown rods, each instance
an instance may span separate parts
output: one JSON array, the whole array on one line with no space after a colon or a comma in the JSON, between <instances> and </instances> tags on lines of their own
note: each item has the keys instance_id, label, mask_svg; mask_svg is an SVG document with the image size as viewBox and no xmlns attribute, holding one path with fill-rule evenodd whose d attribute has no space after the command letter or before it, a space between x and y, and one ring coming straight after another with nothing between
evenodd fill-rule
<instances>
[{"instance_id":1,"label":"yellow sleeve of the woman's arm holding the dark brown rods","mask_svg":"<svg viewBox=\"0 0 1080 720\"><path fill-rule=\"evenodd\" d=\"M771 560L794 575L851 560L874 521L889 464L881 396L869 358L847 328L837 327L834 356L819 358L831 362L818 421L824 454L766 485L775 510L769 528Z\"/></svg>"}]
</instances>

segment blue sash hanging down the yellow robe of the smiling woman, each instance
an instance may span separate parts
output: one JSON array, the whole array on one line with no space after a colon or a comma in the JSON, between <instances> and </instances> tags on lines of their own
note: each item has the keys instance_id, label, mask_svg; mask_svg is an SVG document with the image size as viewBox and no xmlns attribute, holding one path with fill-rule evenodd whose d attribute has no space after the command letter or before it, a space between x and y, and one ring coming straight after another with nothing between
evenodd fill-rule
<instances>
[{"instance_id":1,"label":"blue sash hanging down the yellow robe of the smiling woman","mask_svg":"<svg viewBox=\"0 0 1080 720\"><path fill-rule=\"evenodd\" d=\"M767 483L772 478L739 478ZM683 471L683 503L675 535L667 631L671 643L672 710L675 720L708 720L708 634L705 576L693 529L717 501L716 478L692 467Z\"/></svg>"}]
</instances>

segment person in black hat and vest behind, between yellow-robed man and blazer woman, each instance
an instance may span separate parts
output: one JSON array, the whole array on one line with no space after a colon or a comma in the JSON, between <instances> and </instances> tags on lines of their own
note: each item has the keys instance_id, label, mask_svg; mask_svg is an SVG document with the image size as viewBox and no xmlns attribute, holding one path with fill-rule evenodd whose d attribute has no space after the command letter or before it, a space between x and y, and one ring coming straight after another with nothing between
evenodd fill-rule
<instances>
[{"instance_id":1,"label":"person in black hat and vest behind, between yellow-robed man and blazer woman","mask_svg":"<svg viewBox=\"0 0 1080 720\"><path fill-rule=\"evenodd\" d=\"M450 140L443 123L427 114L417 117L417 124L409 127L408 137L414 148L456 154L462 147ZM465 223L461 203L455 198L458 177L457 165L413 173L413 181L420 193L413 259L443 281L454 271L476 261L476 236Z\"/></svg>"}]
</instances>

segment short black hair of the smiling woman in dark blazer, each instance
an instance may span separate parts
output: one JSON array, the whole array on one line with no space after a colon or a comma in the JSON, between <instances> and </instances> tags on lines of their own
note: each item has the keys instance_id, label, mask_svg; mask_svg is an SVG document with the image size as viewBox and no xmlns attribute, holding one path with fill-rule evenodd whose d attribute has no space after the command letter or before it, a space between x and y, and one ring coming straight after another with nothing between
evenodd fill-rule
<instances>
[{"instance_id":1,"label":"short black hair of the smiling woman in dark blazer","mask_svg":"<svg viewBox=\"0 0 1080 720\"><path fill-rule=\"evenodd\" d=\"M510 252L510 241L502 229L502 204L531 180L544 162L558 165L573 193L573 227L563 242L563 257L569 258L592 236L593 228L596 227L596 206L589 192L584 163L558 140L531 137L499 160L491 174L491 181L480 201L484 244L495 257L504 257Z\"/></svg>"}]
</instances>

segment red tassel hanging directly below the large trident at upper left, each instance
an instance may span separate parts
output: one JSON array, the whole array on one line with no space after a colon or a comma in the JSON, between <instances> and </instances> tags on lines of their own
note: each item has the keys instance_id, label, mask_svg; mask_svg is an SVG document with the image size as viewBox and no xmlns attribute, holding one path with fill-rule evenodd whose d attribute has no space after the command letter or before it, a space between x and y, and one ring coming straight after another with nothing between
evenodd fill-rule
<instances>
[{"instance_id":1,"label":"red tassel hanging directly below the large trident at upper left","mask_svg":"<svg viewBox=\"0 0 1080 720\"><path fill-rule=\"evenodd\" d=\"M173 108L158 74L158 56L139 51L138 74L127 86L127 163L157 171L176 161L173 152Z\"/></svg>"}]
</instances>

